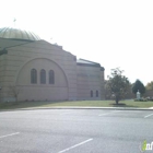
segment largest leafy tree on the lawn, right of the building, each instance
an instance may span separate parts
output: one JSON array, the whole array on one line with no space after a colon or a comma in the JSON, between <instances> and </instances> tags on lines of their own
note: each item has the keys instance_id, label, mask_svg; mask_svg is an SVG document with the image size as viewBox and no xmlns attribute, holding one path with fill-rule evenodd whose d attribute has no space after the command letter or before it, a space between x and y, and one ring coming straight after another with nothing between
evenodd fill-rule
<instances>
[{"instance_id":1,"label":"largest leafy tree on the lawn, right of the building","mask_svg":"<svg viewBox=\"0 0 153 153\"><path fill-rule=\"evenodd\" d=\"M111 69L111 74L108 75L107 85L110 93L115 96L116 104L125 97L130 87L130 82L128 78L122 75L122 70L116 68Z\"/></svg>"}]
</instances>

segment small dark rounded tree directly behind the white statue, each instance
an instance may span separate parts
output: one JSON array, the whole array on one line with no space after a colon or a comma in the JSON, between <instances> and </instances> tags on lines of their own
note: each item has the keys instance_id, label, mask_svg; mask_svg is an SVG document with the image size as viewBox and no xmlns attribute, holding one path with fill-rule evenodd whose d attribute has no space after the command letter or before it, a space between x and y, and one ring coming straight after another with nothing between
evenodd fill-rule
<instances>
[{"instance_id":1,"label":"small dark rounded tree directly behind the white statue","mask_svg":"<svg viewBox=\"0 0 153 153\"><path fill-rule=\"evenodd\" d=\"M137 94L138 90L142 95L145 93L145 86L140 80L136 80L136 82L133 83L132 93Z\"/></svg>"}]
</instances>

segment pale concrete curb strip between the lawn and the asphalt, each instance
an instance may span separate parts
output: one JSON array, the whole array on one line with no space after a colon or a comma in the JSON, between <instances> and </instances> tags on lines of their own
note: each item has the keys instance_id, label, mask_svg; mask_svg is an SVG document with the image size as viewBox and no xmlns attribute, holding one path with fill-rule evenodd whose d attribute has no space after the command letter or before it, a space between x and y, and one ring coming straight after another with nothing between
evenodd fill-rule
<instances>
[{"instance_id":1,"label":"pale concrete curb strip between the lawn and the asphalt","mask_svg":"<svg viewBox=\"0 0 153 153\"><path fill-rule=\"evenodd\" d=\"M37 109L109 109L109 110L153 110L153 108L132 108L132 107L30 107L16 109L0 109L0 111L15 111L15 110L37 110Z\"/></svg>"}]
</instances>

